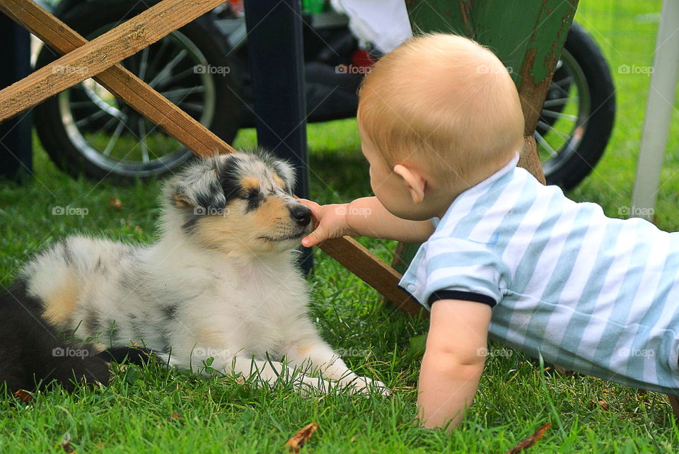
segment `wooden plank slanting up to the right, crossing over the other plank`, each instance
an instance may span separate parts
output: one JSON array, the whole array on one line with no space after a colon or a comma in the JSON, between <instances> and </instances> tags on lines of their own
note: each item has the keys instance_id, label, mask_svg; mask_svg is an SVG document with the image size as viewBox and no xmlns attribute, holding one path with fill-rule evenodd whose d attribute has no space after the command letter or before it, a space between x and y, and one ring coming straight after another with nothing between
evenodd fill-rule
<instances>
[{"instance_id":1,"label":"wooden plank slanting up to the right, crossing over the other plank","mask_svg":"<svg viewBox=\"0 0 679 454\"><path fill-rule=\"evenodd\" d=\"M222 3L224 0L163 0L151 6L0 91L0 122L99 74ZM3 6L8 4L13 4L13 14L21 18L28 1L2 1Z\"/></svg>"}]
</instances>

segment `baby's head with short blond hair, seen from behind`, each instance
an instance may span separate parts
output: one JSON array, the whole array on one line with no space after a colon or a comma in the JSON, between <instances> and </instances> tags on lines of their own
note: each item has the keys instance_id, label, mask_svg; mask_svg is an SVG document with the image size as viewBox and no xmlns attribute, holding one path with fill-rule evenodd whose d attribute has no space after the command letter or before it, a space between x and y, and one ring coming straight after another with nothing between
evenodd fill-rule
<instances>
[{"instance_id":1,"label":"baby's head with short blond hair, seen from behind","mask_svg":"<svg viewBox=\"0 0 679 454\"><path fill-rule=\"evenodd\" d=\"M425 180L424 198L433 194L429 202L446 208L523 144L523 112L509 72L490 50L455 35L416 37L380 59L361 85L358 122L371 180L381 164L410 186L400 170L412 170ZM384 204L378 192L388 192L389 182L377 189L374 183ZM397 215L424 210L402 216L410 219L430 217L424 205L399 213L385 204Z\"/></svg>"}]
</instances>

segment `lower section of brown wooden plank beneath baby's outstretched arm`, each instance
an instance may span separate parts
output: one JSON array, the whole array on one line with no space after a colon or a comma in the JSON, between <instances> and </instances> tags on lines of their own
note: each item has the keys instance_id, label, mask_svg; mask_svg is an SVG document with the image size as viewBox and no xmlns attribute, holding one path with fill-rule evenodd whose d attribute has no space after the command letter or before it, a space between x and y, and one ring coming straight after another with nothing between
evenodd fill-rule
<instances>
[{"instance_id":1,"label":"lower section of brown wooden plank beneath baby's outstretched arm","mask_svg":"<svg viewBox=\"0 0 679 454\"><path fill-rule=\"evenodd\" d=\"M319 247L366 284L382 293L397 308L410 315L417 315L422 310L422 306L417 301L397 286L401 275L375 257L354 238L349 236L332 238L320 243Z\"/></svg>"}]
</instances>

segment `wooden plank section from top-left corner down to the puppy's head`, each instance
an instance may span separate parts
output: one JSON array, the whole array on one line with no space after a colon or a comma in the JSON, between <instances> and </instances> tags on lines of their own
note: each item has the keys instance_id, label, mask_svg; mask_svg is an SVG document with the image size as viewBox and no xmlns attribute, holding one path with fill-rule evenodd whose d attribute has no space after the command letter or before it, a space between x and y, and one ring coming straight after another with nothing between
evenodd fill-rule
<instances>
[{"instance_id":1,"label":"wooden plank section from top-left corner down to the puppy's head","mask_svg":"<svg viewBox=\"0 0 679 454\"><path fill-rule=\"evenodd\" d=\"M67 54L88 42L35 1L4 0L0 4L0 11L56 52ZM95 76L95 79L199 156L214 156L215 151L219 153L235 151L193 117L170 103L161 93L125 69L122 64L111 66Z\"/></svg>"}]
</instances>

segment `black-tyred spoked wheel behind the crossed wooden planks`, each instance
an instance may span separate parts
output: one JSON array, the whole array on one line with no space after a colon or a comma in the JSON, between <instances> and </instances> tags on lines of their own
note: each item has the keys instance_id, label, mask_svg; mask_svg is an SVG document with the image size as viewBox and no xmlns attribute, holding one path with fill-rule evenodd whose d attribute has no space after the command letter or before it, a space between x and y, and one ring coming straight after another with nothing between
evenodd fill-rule
<instances>
[{"instance_id":1,"label":"black-tyred spoked wheel behind the crossed wooden planks","mask_svg":"<svg viewBox=\"0 0 679 454\"><path fill-rule=\"evenodd\" d=\"M135 1L90 1L62 20L93 39L141 11ZM229 142L238 131L238 87L224 40L202 16L125 59L122 64L149 86ZM43 47L36 66L57 56ZM160 175L192 152L90 78L35 108L35 127L54 163L66 173L132 180Z\"/></svg>"}]
</instances>

